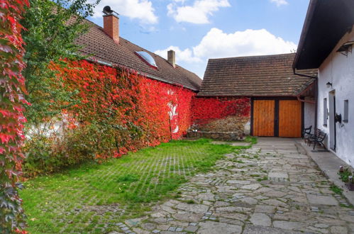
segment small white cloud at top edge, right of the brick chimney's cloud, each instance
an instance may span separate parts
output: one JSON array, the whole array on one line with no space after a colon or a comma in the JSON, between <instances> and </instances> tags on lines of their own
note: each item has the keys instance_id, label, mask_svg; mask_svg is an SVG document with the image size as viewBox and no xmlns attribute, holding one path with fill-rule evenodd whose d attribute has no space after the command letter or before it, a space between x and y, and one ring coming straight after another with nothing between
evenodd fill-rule
<instances>
[{"instance_id":1,"label":"small white cloud at top edge, right of the brick chimney's cloud","mask_svg":"<svg viewBox=\"0 0 354 234\"><path fill-rule=\"evenodd\" d=\"M167 15L178 23L209 23L209 16L219 11L219 8L228 6L231 6L228 0L196 0L192 6L184 6L183 0L175 0L167 5Z\"/></svg>"}]
</instances>

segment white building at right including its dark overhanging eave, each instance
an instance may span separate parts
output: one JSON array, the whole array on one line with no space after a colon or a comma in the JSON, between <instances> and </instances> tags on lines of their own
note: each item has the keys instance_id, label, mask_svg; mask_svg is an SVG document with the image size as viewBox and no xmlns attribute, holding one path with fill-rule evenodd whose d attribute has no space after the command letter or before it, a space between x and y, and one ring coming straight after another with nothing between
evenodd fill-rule
<instances>
[{"instance_id":1,"label":"white building at right including its dark overhanging eave","mask_svg":"<svg viewBox=\"0 0 354 234\"><path fill-rule=\"evenodd\" d=\"M318 69L314 128L354 167L354 0L310 1L293 68Z\"/></svg>"}]
</instances>

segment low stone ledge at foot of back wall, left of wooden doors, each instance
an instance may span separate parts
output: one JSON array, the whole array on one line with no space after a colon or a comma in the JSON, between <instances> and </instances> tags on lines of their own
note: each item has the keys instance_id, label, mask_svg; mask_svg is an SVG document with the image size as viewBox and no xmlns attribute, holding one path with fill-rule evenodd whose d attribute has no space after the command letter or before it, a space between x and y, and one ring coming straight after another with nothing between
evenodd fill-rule
<instances>
[{"instance_id":1,"label":"low stone ledge at foot of back wall, left of wooden doors","mask_svg":"<svg viewBox=\"0 0 354 234\"><path fill-rule=\"evenodd\" d=\"M237 132L188 131L187 138L209 138L214 140L243 140L243 130Z\"/></svg>"}]
</instances>

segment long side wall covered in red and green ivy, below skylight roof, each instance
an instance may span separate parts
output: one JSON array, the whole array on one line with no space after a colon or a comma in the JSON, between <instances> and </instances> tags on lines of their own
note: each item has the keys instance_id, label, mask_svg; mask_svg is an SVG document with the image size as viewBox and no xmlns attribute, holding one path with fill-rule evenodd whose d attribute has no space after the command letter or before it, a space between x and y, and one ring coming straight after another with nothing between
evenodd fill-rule
<instances>
[{"instance_id":1,"label":"long side wall covered in red and green ivy, below skylight roof","mask_svg":"<svg viewBox=\"0 0 354 234\"><path fill-rule=\"evenodd\" d=\"M106 67L87 61L52 65L57 79L76 91L73 103L62 110L68 128L102 128L96 158L119 157L141 147L181 138L190 126L193 91L147 79L122 67ZM106 133L107 131L111 133ZM114 135L112 140L107 140Z\"/></svg>"}]
</instances>

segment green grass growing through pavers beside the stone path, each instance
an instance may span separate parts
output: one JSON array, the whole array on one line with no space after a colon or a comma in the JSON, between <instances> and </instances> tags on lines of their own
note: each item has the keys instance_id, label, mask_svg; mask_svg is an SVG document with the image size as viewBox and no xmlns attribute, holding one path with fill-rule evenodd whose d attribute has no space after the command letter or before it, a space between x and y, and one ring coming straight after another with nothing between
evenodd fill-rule
<instances>
[{"instance_id":1,"label":"green grass growing through pavers beside the stone path","mask_svg":"<svg viewBox=\"0 0 354 234\"><path fill-rule=\"evenodd\" d=\"M188 177L211 169L239 147L210 140L172 141L102 165L38 177L21 191L30 233L105 233L166 199ZM122 210L125 210L124 212Z\"/></svg>"}]
</instances>

